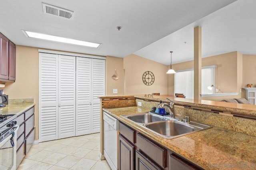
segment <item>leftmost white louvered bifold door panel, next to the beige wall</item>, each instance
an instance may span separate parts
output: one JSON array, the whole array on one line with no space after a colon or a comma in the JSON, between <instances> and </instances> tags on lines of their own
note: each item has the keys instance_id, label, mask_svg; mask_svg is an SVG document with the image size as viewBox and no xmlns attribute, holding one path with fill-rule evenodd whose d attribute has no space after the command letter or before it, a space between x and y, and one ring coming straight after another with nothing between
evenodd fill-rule
<instances>
[{"instance_id":1,"label":"leftmost white louvered bifold door panel, next to the beige wall","mask_svg":"<svg viewBox=\"0 0 256 170\"><path fill-rule=\"evenodd\" d=\"M39 142L58 139L58 55L39 53Z\"/></svg>"}]
</instances>

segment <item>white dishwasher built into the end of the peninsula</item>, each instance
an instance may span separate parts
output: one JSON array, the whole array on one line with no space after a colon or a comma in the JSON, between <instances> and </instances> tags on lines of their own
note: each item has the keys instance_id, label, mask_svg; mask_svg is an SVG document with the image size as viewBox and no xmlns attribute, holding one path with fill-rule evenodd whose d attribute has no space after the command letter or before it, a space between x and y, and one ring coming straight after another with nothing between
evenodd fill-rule
<instances>
[{"instance_id":1,"label":"white dishwasher built into the end of the peninsula","mask_svg":"<svg viewBox=\"0 0 256 170\"><path fill-rule=\"evenodd\" d=\"M119 121L104 112L104 156L112 170L118 170Z\"/></svg>"}]
</instances>

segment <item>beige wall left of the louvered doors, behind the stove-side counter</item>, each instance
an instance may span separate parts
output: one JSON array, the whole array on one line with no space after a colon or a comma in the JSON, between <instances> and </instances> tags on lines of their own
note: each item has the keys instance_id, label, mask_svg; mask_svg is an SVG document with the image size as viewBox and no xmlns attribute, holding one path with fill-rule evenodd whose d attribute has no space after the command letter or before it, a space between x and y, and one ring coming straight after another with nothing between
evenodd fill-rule
<instances>
[{"instance_id":1,"label":"beige wall left of the louvered doors, behind the stove-side counter","mask_svg":"<svg viewBox=\"0 0 256 170\"><path fill-rule=\"evenodd\" d=\"M34 98L38 140L38 48L16 45L16 81L5 85L10 99Z\"/></svg>"}]
</instances>

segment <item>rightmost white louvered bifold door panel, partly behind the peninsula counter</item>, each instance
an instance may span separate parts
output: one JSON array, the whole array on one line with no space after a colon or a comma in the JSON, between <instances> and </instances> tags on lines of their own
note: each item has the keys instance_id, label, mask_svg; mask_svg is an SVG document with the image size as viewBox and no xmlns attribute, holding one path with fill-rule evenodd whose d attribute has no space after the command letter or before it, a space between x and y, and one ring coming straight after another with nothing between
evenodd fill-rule
<instances>
[{"instance_id":1,"label":"rightmost white louvered bifold door panel, partly behind the peninsula counter","mask_svg":"<svg viewBox=\"0 0 256 170\"><path fill-rule=\"evenodd\" d=\"M105 60L92 59L92 133L100 132L98 96L105 96Z\"/></svg>"}]
</instances>

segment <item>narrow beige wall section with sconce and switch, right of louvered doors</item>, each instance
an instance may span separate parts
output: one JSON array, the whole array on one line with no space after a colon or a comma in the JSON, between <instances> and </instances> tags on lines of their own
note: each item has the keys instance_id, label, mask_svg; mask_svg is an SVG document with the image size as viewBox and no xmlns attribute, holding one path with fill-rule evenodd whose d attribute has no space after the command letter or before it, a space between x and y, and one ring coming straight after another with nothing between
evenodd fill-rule
<instances>
[{"instance_id":1,"label":"narrow beige wall section with sconce and switch, right of louvered doors","mask_svg":"<svg viewBox=\"0 0 256 170\"><path fill-rule=\"evenodd\" d=\"M124 94L124 60L118 57L106 57L106 95L123 95ZM116 72L118 80L113 80L112 76ZM118 94L113 94L113 89L118 89Z\"/></svg>"}]
</instances>

